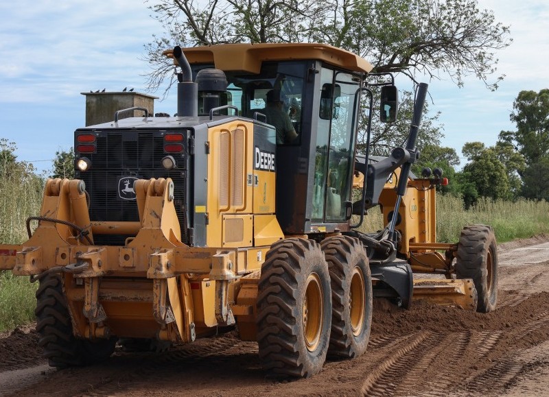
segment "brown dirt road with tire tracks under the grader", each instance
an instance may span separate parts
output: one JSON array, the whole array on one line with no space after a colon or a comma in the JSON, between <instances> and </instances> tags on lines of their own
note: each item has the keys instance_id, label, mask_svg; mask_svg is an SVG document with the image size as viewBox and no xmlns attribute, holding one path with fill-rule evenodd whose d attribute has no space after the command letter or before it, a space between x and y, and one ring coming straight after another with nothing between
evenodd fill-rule
<instances>
[{"instance_id":1,"label":"brown dirt road with tire tracks under the grader","mask_svg":"<svg viewBox=\"0 0 549 397\"><path fill-rule=\"evenodd\" d=\"M376 301L369 350L309 379L264 378L257 345L234 333L163 354L116 352L56 371L30 329L0 337L0 395L541 396L549 394L549 237L501 245L498 310Z\"/></svg>"}]
</instances>

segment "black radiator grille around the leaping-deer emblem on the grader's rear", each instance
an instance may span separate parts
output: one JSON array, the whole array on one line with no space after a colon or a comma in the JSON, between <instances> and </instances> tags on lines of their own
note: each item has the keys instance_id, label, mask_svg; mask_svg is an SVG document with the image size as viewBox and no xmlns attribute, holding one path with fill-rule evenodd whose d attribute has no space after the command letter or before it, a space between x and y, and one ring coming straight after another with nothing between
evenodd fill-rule
<instances>
[{"instance_id":1,"label":"black radiator grille around the leaping-deer emblem on the grader's rear","mask_svg":"<svg viewBox=\"0 0 549 397\"><path fill-rule=\"evenodd\" d=\"M179 160L177 170L166 171L162 167L161 160L166 155L163 132L114 130L97 133L97 152L88 156L92 167L90 171L80 173L80 179L86 182L86 190L90 194L90 219L139 221L137 202L119 198L120 178L172 178L181 238L187 242L187 170L183 158L176 159ZM97 245L124 245L126 237L94 236L94 242Z\"/></svg>"}]
</instances>

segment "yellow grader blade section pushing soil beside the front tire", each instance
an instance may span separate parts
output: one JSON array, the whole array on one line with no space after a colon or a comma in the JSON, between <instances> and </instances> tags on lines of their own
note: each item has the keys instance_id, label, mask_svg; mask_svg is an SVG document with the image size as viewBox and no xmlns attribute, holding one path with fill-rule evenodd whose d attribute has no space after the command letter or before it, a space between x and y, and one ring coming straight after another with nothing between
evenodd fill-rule
<instances>
[{"instance_id":1,"label":"yellow grader blade section pushing soil beside the front tire","mask_svg":"<svg viewBox=\"0 0 549 397\"><path fill-rule=\"evenodd\" d=\"M478 298L473 280L470 278L461 280L423 278L414 280L412 300L427 300L442 306L476 310Z\"/></svg>"}]
</instances>

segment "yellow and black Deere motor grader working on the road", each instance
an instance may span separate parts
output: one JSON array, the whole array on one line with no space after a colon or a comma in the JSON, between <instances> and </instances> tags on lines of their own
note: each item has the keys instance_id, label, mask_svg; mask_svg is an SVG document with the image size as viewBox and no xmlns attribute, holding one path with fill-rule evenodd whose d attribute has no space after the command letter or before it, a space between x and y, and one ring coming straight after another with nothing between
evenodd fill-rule
<instances>
[{"instance_id":1,"label":"yellow and black Deere motor grader working on the road","mask_svg":"<svg viewBox=\"0 0 549 397\"><path fill-rule=\"evenodd\" d=\"M353 53L235 44L165 55L180 67L176 115L122 109L76 130L75 179L47 180L29 240L0 247L0 269L40 282L50 365L104 360L118 340L187 344L236 325L268 375L304 377L327 354L364 353L373 298L494 309L491 228L436 243L441 178L410 173L426 84L406 145L374 159L356 156L360 107L367 125L378 100L394 121L397 88ZM273 89L293 106L297 139L277 143L262 112ZM144 117L121 118L136 110ZM386 227L361 232L377 205Z\"/></svg>"}]
</instances>

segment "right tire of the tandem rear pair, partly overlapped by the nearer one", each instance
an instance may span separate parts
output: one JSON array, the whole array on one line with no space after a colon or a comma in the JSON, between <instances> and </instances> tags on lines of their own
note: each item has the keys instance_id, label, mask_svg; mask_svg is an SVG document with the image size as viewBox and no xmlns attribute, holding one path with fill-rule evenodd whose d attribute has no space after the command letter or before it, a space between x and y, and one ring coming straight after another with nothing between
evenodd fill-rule
<instances>
[{"instance_id":1,"label":"right tire of the tandem rear pair, partly overlapped by the nearer one","mask_svg":"<svg viewBox=\"0 0 549 397\"><path fill-rule=\"evenodd\" d=\"M362 244L353 237L325 239L322 250L331 282L328 355L353 358L366 352L372 327L372 276Z\"/></svg>"}]
</instances>

